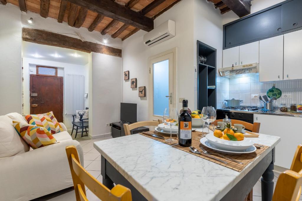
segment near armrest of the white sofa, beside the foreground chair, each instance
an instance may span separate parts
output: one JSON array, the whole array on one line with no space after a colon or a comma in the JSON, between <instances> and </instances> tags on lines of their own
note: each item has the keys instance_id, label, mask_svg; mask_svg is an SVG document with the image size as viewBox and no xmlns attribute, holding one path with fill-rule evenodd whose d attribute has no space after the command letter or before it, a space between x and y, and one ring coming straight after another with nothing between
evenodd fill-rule
<instances>
[{"instance_id":1,"label":"near armrest of the white sofa, beside the foreground chair","mask_svg":"<svg viewBox=\"0 0 302 201\"><path fill-rule=\"evenodd\" d=\"M1 199L31 200L73 186L65 151L70 145L76 146L83 165L83 149L76 140L63 140L0 160Z\"/></svg>"}]
</instances>

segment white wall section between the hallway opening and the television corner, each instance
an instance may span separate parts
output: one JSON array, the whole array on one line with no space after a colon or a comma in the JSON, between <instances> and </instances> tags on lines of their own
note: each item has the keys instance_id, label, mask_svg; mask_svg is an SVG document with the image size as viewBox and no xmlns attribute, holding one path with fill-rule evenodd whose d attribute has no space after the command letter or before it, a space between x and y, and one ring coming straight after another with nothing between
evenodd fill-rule
<instances>
[{"instance_id":1,"label":"white wall section between the hallway opening and the television corner","mask_svg":"<svg viewBox=\"0 0 302 201\"><path fill-rule=\"evenodd\" d=\"M92 138L111 134L106 123L120 121L121 65L122 58L92 52L92 132L89 129Z\"/></svg>"}]
</instances>

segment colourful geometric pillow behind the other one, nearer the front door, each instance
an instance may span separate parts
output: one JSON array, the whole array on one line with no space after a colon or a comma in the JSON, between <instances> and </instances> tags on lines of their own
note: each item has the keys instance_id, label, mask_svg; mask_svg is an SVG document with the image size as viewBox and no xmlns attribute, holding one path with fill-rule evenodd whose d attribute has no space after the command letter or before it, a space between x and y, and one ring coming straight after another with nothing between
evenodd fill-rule
<instances>
[{"instance_id":1,"label":"colourful geometric pillow behind the other one, nearer the front door","mask_svg":"<svg viewBox=\"0 0 302 201\"><path fill-rule=\"evenodd\" d=\"M31 125L46 128L51 134L63 131L52 111L39 115L26 115L25 119Z\"/></svg>"}]
</instances>

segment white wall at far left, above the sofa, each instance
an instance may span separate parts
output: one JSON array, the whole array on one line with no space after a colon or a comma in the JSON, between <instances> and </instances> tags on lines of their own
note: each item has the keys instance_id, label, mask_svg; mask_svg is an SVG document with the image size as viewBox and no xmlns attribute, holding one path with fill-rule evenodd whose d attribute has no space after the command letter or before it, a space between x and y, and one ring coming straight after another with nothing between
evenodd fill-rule
<instances>
[{"instance_id":1,"label":"white wall at far left, above the sofa","mask_svg":"<svg viewBox=\"0 0 302 201\"><path fill-rule=\"evenodd\" d=\"M0 19L0 115L21 113L20 9L11 4L0 5Z\"/></svg>"}]
</instances>

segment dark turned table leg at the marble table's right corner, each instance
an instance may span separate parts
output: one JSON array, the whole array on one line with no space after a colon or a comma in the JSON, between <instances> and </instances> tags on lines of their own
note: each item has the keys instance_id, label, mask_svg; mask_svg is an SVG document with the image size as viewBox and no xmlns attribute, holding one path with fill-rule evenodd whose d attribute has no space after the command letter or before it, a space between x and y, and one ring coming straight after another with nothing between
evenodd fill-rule
<instances>
[{"instance_id":1,"label":"dark turned table leg at the marble table's right corner","mask_svg":"<svg viewBox=\"0 0 302 201\"><path fill-rule=\"evenodd\" d=\"M261 178L261 198L262 201L271 201L274 193L274 162L275 162L275 149L273 149L273 160L264 171Z\"/></svg>"}]
</instances>

